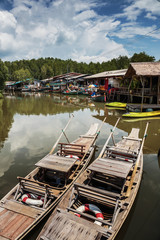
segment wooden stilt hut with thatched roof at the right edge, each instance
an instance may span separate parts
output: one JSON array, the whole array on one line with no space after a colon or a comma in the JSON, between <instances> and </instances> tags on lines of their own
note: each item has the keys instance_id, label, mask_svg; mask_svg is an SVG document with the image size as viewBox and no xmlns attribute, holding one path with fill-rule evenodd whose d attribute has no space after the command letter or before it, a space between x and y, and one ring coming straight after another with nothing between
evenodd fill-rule
<instances>
[{"instance_id":1,"label":"wooden stilt hut with thatched roof at the right edge","mask_svg":"<svg viewBox=\"0 0 160 240\"><path fill-rule=\"evenodd\" d=\"M119 89L119 100L126 95L128 102L160 104L160 62L131 63L124 78L129 86Z\"/></svg>"}]
</instances>

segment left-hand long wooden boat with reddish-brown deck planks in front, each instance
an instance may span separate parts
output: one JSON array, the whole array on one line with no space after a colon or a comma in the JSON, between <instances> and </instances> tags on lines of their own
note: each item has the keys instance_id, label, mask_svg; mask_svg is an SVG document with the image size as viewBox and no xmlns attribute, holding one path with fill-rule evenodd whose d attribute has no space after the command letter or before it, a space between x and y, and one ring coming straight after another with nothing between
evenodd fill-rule
<instances>
[{"instance_id":1,"label":"left-hand long wooden boat with reddish-brown deck planks in front","mask_svg":"<svg viewBox=\"0 0 160 240\"><path fill-rule=\"evenodd\" d=\"M59 143L53 154L54 146L37 168L18 177L19 183L0 201L0 239L22 239L53 210L91 160L97 128L92 124L72 143Z\"/></svg>"}]
</instances>

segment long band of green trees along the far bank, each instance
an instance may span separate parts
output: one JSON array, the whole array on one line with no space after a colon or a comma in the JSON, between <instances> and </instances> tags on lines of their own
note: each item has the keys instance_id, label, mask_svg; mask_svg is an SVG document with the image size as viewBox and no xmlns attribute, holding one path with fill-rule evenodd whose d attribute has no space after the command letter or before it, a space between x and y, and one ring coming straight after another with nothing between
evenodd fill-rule
<instances>
[{"instance_id":1,"label":"long band of green trees along the far bank","mask_svg":"<svg viewBox=\"0 0 160 240\"><path fill-rule=\"evenodd\" d=\"M119 56L110 61L89 64L57 58L39 58L19 60L14 62L0 60L0 90L3 90L5 81L20 81L26 79L46 79L67 72L95 74L104 71L128 68L130 62L154 62L155 57L145 52L135 53L131 58Z\"/></svg>"}]
</instances>

